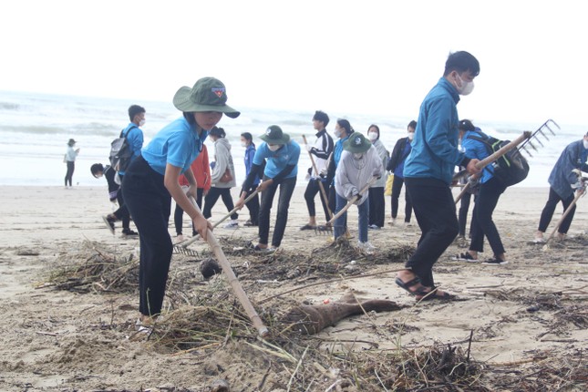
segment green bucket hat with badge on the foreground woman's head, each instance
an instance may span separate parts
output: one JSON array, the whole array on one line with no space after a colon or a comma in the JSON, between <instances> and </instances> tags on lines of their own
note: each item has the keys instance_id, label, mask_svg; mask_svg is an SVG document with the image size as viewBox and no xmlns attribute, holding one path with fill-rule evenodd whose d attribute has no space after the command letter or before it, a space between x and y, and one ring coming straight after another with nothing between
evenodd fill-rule
<instances>
[{"instance_id":1,"label":"green bucket hat with badge on the foreground woman's head","mask_svg":"<svg viewBox=\"0 0 588 392\"><path fill-rule=\"evenodd\" d=\"M241 114L226 104L227 93L222 81L214 77L202 77L193 88L182 87L173 96L173 106L181 111L218 111L231 119Z\"/></svg>"}]
</instances>

